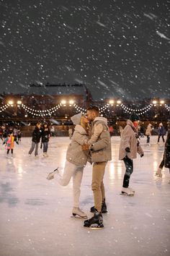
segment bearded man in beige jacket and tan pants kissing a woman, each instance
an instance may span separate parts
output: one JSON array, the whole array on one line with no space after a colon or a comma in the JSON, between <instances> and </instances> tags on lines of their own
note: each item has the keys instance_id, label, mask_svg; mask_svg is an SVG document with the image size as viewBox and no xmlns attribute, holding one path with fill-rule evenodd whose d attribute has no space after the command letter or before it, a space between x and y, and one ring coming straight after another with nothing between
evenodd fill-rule
<instances>
[{"instance_id":1,"label":"bearded man in beige jacket and tan pants kissing a woman","mask_svg":"<svg viewBox=\"0 0 170 256\"><path fill-rule=\"evenodd\" d=\"M91 139L83 146L83 149L90 150L91 163L93 163L91 189L94 193L94 207L91 208L91 212L94 212L94 216L84 221L84 226L102 228L102 213L107 213L103 179L107 161L112 158L111 139L107 119L99 116L97 106L88 108L86 116L91 121Z\"/></svg>"}]
</instances>

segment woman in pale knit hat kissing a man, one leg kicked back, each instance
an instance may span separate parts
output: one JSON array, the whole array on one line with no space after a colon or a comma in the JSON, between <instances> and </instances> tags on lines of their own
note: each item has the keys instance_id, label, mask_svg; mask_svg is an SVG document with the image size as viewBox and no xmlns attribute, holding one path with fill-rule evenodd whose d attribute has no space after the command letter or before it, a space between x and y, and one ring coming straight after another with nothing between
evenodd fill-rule
<instances>
[{"instance_id":1,"label":"woman in pale knit hat kissing a man, one leg kicked back","mask_svg":"<svg viewBox=\"0 0 170 256\"><path fill-rule=\"evenodd\" d=\"M55 171L48 174L47 179L53 179L56 174L57 181L61 186L67 186L71 178L73 178L73 216L79 216L86 218L87 215L79 208L79 198L81 193L81 179L84 173L84 166L86 166L88 151L82 150L81 146L84 145L89 139L87 128L88 120L84 114L79 113L71 117L73 124L76 124L74 128L73 137L71 143L68 145L66 153L66 163L61 175L58 168Z\"/></svg>"}]
</instances>

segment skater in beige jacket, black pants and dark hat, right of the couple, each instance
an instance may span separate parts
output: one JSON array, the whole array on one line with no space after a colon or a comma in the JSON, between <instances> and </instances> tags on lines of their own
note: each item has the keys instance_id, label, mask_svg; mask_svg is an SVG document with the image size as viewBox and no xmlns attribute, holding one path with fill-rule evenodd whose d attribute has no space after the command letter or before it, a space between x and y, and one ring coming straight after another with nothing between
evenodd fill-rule
<instances>
[{"instance_id":1,"label":"skater in beige jacket, black pants and dark hat, right of the couple","mask_svg":"<svg viewBox=\"0 0 170 256\"><path fill-rule=\"evenodd\" d=\"M137 114L130 115L120 140L119 160L124 161L126 167L122 184L123 195L134 195L134 189L129 187L130 175L133 173L133 159L137 158L137 153L143 157L143 150L138 141L138 120Z\"/></svg>"}]
</instances>

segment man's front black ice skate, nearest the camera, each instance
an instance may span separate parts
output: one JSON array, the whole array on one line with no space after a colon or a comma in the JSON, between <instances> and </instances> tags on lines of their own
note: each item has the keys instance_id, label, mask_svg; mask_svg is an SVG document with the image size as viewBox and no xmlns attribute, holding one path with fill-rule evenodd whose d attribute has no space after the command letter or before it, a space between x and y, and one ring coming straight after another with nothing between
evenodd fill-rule
<instances>
[{"instance_id":1,"label":"man's front black ice skate, nearest the camera","mask_svg":"<svg viewBox=\"0 0 170 256\"><path fill-rule=\"evenodd\" d=\"M89 218L89 220L84 221L84 227L89 229L102 229L103 226L103 217L102 213L98 213L95 209L94 216Z\"/></svg>"}]
</instances>

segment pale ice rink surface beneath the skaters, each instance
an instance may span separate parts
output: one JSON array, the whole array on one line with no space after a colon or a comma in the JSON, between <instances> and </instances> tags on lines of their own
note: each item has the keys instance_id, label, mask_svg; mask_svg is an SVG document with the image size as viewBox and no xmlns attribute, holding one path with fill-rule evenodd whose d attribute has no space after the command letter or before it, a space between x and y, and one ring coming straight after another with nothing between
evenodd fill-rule
<instances>
[{"instance_id":1,"label":"pale ice rink surface beneath the skaters","mask_svg":"<svg viewBox=\"0 0 170 256\"><path fill-rule=\"evenodd\" d=\"M61 187L47 174L60 166L63 170L68 137L50 138L48 158L28 155L31 137L14 145L14 155L6 156L0 146L0 255L1 256L161 256L170 255L170 174L155 176L164 143L151 146L140 140L144 157L134 160L130 187L134 197L120 195L125 166L118 161L120 137L112 137L112 161L104 176L108 213L103 214L104 229L83 227L84 219L71 218L72 182ZM91 165L84 168L81 209L94 205L91 192Z\"/></svg>"}]
</instances>

